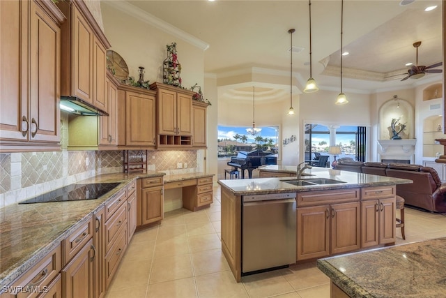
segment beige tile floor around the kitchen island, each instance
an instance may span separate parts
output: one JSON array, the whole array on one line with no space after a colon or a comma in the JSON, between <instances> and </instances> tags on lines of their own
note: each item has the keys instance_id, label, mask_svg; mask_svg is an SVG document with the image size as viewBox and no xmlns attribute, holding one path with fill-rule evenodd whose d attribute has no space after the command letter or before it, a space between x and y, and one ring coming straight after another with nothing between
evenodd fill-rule
<instances>
[{"instance_id":1,"label":"beige tile floor around the kitchen island","mask_svg":"<svg viewBox=\"0 0 446 298\"><path fill-rule=\"evenodd\" d=\"M134 234L107 298L330 297L316 262L244 276L236 283L220 244L220 188L210 208L167 212L161 225ZM406 208L406 240L446 237L446 216Z\"/></svg>"}]
</instances>

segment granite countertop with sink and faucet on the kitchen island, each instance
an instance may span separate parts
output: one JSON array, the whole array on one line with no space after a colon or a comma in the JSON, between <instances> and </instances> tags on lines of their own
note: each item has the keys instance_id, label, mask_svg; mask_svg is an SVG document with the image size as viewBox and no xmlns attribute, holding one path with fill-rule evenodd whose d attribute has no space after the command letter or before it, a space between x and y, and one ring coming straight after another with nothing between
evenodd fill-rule
<instances>
[{"instance_id":1,"label":"granite countertop with sink and faucet on the kitchen island","mask_svg":"<svg viewBox=\"0 0 446 298\"><path fill-rule=\"evenodd\" d=\"M286 168L286 167L289 168L289 166L284 167L277 165L274 166L268 165L267 168L270 171L274 171L272 167L277 167L278 172L283 172L283 170L279 170L281 168ZM226 190L233 193L233 195L259 195L259 194L269 194L269 193L326 191L326 190L342 189L342 188L413 183L413 181L409 179L399 179L399 178L362 174L349 171L332 170L329 169L328 167L313 167L312 169L305 170L305 174L306 176L302 176L302 179L325 178L325 179L334 179L343 181L344 183L318 184L312 186L295 186L293 184L286 183L286 181L295 180L296 177L281 177L281 178L219 180L218 184L220 184L222 188L226 188ZM312 176L308 176L309 174L311 174Z\"/></svg>"}]
</instances>

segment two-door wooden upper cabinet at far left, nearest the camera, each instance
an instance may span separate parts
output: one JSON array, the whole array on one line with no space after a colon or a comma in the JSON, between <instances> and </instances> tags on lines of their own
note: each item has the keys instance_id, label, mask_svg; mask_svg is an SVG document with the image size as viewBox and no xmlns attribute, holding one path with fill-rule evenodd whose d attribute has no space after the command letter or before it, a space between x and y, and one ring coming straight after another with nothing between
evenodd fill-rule
<instances>
[{"instance_id":1,"label":"two-door wooden upper cabinet at far left, nearest the camera","mask_svg":"<svg viewBox=\"0 0 446 298\"><path fill-rule=\"evenodd\" d=\"M0 151L59 150L62 13L0 1Z\"/></svg>"}]
</instances>

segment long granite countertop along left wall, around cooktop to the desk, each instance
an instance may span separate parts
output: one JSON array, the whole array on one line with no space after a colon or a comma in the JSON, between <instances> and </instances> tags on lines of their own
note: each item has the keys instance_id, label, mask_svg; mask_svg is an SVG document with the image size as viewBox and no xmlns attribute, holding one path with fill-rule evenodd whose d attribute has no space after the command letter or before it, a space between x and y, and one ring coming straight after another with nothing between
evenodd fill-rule
<instances>
[{"instance_id":1,"label":"long granite countertop along left wall, around cooktop to the desk","mask_svg":"<svg viewBox=\"0 0 446 298\"><path fill-rule=\"evenodd\" d=\"M0 208L0 291L26 269L61 243L78 225L109 198L138 178L164 176L163 172L102 174L82 183L119 182L116 188L97 200L11 204ZM164 176L164 181L180 181L213 176L202 172Z\"/></svg>"}]
</instances>

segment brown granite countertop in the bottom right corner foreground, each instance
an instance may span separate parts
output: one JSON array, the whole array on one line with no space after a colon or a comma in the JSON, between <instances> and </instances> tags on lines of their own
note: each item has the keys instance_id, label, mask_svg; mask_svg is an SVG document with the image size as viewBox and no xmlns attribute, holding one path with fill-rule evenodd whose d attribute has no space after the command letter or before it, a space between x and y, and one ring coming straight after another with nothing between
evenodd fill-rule
<instances>
[{"instance_id":1,"label":"brown granite countertop in the bottom right corner foreground","mask_svg":"<svg viewBox=\"0 0 446 298\"><path fill-rule=\"evenodd\" d=\"M446 238L324 258L317 266L352 298L446 295Z\"/></svg>"}]
</instances>

